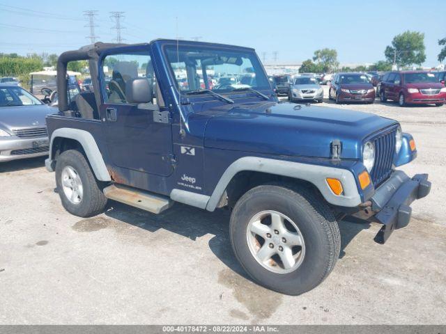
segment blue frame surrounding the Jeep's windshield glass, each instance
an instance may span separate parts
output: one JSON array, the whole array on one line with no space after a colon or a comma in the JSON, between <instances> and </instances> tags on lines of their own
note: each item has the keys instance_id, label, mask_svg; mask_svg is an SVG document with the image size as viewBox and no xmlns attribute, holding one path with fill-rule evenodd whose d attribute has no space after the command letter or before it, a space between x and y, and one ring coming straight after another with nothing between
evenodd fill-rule
<instances>
[{"instance_id":1,"label":"blue frame surrounding the Jeep's windshield glass","mask_svg":"<svg viewBox=\"0 0 446 334\"><path fill-rule=\"evenodd\" d=\"M190 92L190 91L194 91L194 90L181 90L178 86L178 80L176 79L176 75L174 72L174 67L172 67L172 63L176 63L175 61L171 62L171 60L169 59L169 54L168 52L170 51L169 49L174 49L174 51L176 51L176 47L177 44L174 43L165 43L162 45L162 56L164 58L164 61L166 62L166 69L167 72L169 73L169 79L171 80L171 83L173 84L173 88L175 90L175 92L184 97L184 98L190 98L192 95L186 95L185 93ZM216 53L218 53L219 51L221 52L229 52L229 53L240 53L240 56L247 56L247 57L243 57L243 58L247 58L249 59L249 61L251 62L252 67L254 68L254 74L256 74L256 76L263 76L263 79L265 81L265 84L267 86L256 86L253 87L256 90L268 90L271 94L272 94L272 86L270 84L270 80L268 79L268 75L266 74L266 71L263 67L263 65L261 64L260 58L259 56L256 54L256 51L254 49L251 48L245 48L245 47L236 47L236 46L232 46L232 45L217 45L217 44L211 44L211 43L199 43L199 42L178 42L178 48L180 49L198 49L197 51L214 51ZM197 67L199 68L199 67ZM240 74L249 74L249 73L240 73ZM226 75L224 77L232 77L232 75ZM188 78L186 78L188 79ZM203 79L203 77L200 77L200 79ZM261 82L261 80L260 80ZM199 88L198 90L201 89L207 89L205 88ZM218 93L220 95L243 95L246 94L247 92L243 92L243 91L237 91L237 90L231 90L231 89L225 89L225 90L215 90L213 89L213 92ZM199 99L199 100L208 100L209 98L213 99L213 100L217 100L216 97L213 97L212 95L193 95L194 99Z\"/></svg>"}]
</instances>

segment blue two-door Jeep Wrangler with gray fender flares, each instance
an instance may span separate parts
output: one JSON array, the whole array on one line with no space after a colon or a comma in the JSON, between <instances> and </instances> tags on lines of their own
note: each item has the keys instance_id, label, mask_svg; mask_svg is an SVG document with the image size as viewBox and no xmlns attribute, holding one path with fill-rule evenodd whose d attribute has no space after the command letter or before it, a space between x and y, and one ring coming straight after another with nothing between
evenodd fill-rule
<instances>
[{"instance_id":1,"label":"blue two-door Jeep Wrangler with gray fender flares","mask_svg":"<svg viewBox=\"0 0 446 334\"><path fill-rule=\"evenodd\" d=\"M66 67L88 60L93 91L68 102ZM382 223L384 243L426 196L410 134L369 113L279 102L254 49L204 42L96 43L59 57L47 169L63 207L107 199L159 214L173 202L231 210L233 251L256 282L297 295L332 271L337 221ZM243 77L250 84L220 81Z\"/></svg>"}]
</instances>

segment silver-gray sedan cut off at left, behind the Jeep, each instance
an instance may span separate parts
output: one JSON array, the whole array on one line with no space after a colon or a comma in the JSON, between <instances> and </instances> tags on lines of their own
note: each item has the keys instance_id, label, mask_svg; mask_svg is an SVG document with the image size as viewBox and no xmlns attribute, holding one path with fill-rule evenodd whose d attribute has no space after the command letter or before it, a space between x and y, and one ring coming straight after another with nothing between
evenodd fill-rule
<instances>
[{"instance_id":1,"label":"silver-gray sedan cut off at left, behind the Jeep","mask_svg":"<svg viewBox=\"0 0 446 334\"><path fill-rule=\"evenodd\" d=\"M57 113L19 86L0 84L0 163L48 154L45 116Z\"/></svg>"}]
</instances>

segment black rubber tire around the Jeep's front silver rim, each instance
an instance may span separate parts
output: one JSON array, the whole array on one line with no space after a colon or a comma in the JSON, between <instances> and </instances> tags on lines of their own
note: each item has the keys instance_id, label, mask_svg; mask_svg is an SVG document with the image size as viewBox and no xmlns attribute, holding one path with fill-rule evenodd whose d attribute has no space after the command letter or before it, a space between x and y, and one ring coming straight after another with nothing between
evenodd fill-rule
<instances>
[{"instance_id":1,"label":"black rubber tire around the Jeep's front silver rim","mask_svg":"<svg viewBox=\"0 0 446 334\"><path fill-rule=\"evenodd\" d=\"M272 259L261 264L252 253L254 250L251 250L252 244L249 241L252 232L248 232L248 228L251 224L254 225L252 219L256 219L257 215L270 212L266 210L286 216L286 220L290 219L298 227L303 239L303 247L301 246L298 252L302 255L303 250L302 258L299 257L300 263L296 260L294 264L298 267L286 269L282 263L284 267L282 268L277 260L274 262L277 266L274 267L270 265ZM275 239L273 242L284 241L281 239L281 234L282 232L273 235L272 239ZM253 280L268 289L293 296L314 289L323 282L334 268L341 247L337 221L323 198L319 198L310 190L292 189L284 184L261 185L247 191L238 200L231 214L230 237L238 261ZM259 247L270 248L270 244L267 245L266 241L268 234L265 234L264 238L265 241L262 245L259 244ZM292 244L291 241L289 244ZM294 247L299 249L299 246ZM277 250L278 254L280 247L277 246L273 250ZM279 258L278 255L272 256ZM268 265L270 269L265 267ZM276 270L291 271L278 273Z\"/></svg>"}]
</instances>

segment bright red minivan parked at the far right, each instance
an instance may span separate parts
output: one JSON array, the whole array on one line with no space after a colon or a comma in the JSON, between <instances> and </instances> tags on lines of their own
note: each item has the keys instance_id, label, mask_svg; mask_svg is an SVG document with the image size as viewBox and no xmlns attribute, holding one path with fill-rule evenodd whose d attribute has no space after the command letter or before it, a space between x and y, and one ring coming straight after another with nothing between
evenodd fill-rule
<instances>
[{"instance_id":1,"label":"bright red minivan parked at the far right","mask_svg":"<svg viewBox=\"0 0 446 334\"><path fill-rule=\"evenodd\" d=\"M446 88L427 71L388 72L380 83L380 100L406 104L428 104L443 106Z\"/></svg>"}]
</instances>

